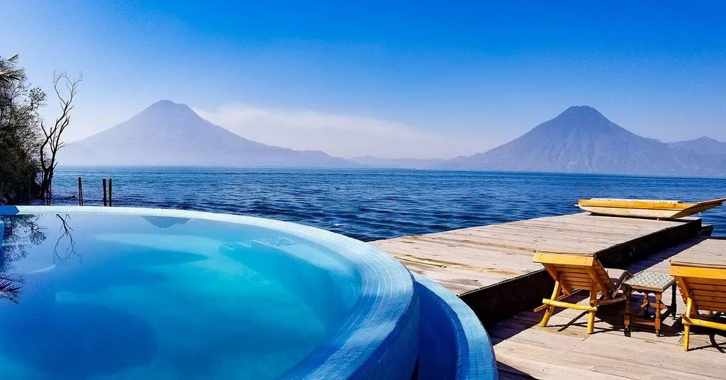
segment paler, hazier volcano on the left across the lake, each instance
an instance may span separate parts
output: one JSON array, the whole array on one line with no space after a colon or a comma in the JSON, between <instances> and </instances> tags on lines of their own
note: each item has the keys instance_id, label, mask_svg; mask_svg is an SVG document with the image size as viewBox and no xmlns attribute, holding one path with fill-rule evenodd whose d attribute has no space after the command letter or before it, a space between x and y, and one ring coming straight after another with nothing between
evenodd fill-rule
<instances>
[{"instance_id":1,"label":"paler, hazier volcano on the left across the lake","mask_svg":"<svg viewBox=\"0 0 726 380\"><path fill-rule=\"evenodd\" d=\"M298 151L247 140L162 100L111 129L64 147L61 165L354 167L320 151Z\"/></svg>"}]
</instances>

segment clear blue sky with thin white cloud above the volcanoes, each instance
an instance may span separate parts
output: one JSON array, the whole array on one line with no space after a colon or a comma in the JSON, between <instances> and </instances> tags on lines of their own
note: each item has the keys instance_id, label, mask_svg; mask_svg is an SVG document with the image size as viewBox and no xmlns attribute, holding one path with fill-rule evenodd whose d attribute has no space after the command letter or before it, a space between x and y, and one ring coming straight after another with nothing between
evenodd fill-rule
<instances>
[{"instance_id":1,"label":"clear blue sky with thin white cloud above the volcanoes","mask_svg":"<svg viewBox=\"0 0 726 380\"><path fill-rule=\"evenodd\" d=\"M69 140L166 99L346 157L469 155L570 105L726 141L726 1L0 0L16 53L46 91L83 71Z\"/></svg>"}]
</instances>

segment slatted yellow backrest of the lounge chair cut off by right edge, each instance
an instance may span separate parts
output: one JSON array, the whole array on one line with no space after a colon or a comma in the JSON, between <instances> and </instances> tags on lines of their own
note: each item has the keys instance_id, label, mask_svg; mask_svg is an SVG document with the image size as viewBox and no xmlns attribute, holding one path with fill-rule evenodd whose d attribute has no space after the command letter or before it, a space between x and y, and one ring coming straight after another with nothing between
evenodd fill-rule
<instances>
[{"instance_id":1,"label":"slatted yellow backrest of the lounge chair cut off by right edge","mask_svg":"<svg viewBox=\"0 0 726 380\"><path fill-rule=\"evenodd\" d=\"M690 297L696 310L726 312L726 267L671 261L683 300Z\"/></svg>"}]
</instances>

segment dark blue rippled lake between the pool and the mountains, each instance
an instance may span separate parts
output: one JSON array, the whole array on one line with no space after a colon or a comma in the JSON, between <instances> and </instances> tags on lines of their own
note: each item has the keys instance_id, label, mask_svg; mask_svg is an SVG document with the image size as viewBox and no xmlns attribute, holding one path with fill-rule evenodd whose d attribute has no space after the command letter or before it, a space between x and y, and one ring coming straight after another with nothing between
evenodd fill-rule
<instances>
[{"instance_id":1,"label":"dark blue rippled lake between the pool and the mountains","mask_svg":"<svg viewBox=\"0 0 726 380\"><path fill-rule=\"evenodd\" d=\"M433 233L579 211L578 198L703 201L726 197L723 178L629 177L395 169L60 168L53 203L245 214L321 227L359 240ZM726 209L703 214L726 235Z\"/></svg>"}]
</instances>

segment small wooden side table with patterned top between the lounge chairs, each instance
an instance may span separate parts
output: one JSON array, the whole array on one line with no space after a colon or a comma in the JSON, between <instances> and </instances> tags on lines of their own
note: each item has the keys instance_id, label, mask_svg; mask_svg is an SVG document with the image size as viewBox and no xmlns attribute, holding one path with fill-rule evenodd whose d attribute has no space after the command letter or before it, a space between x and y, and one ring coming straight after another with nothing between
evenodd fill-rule
<instances>
[{"instance_id":1,"label":"small wooden side table with patterned top between the lounge chairs","mask_svg":"<svg viewBox=\"0 0 726 380\"><path fill-rule=\"evenodd\" d=\"M662 302L663 292L667 288L672 288L672 297L670 306ZM630 310L630 295L633 291L643 293L643 302L635 311ZM644 270L638 272L632 278L623 281L623 293L625 295L625 334L630 335L630 323L638 323L641 325L655 326L656 336L661 335L661 320L671 315L676 319L676 282L670 275L661 272L650 272ZM654 294L656 302L650 302L649 294ZM650 307L655 312L652 317ZM643 315L640 315L640 312Z\"/></svg>"}]
</instances>

